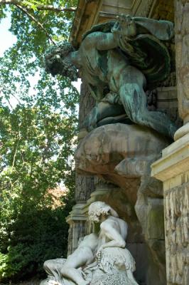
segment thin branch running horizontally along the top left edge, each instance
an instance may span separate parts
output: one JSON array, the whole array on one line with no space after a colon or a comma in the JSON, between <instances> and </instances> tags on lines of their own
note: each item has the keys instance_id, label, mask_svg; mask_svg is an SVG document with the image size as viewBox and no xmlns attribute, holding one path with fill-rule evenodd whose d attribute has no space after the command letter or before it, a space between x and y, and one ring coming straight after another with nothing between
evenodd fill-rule
<instances>
[{"instance_id":1,"label":"thin branch running horizontally along the top left edge","mask_svg":"<svg viewBox=\"0 0 189 285\"><path fill-rule=\"evenodd\" d=\"M30 5L24 4L24 1L20 1L20 0L0 0L0 5L3 5L3 4L19 5L19 6L25 7L27 10L33 10ZM47 10L47 11L53 11L56 13L60 13L63 11L75 12L77 8L76 7L63 7L63 6L55 7L53 5L36 5L36 9L42 10L42 11Z\"/></svg>"}]
</instances>

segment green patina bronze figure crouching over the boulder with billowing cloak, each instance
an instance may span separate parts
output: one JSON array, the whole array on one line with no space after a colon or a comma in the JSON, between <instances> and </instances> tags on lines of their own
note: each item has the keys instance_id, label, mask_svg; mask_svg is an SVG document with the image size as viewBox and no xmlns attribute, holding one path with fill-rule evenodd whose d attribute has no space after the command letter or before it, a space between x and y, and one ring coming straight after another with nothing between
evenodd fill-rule
<instances>
[{"instance_id":1,"label":"green patina bronze figure crouching over the boulder with billowing cloak","mask_svg":"<svg viewBox=\"0 0 189 285\"><path fill-rule=\"evenodd\" d=\"M145 90L166 80L171 60L163 42L173 37L173 24L121 15L117 21L93 26L75 51L58 43L45 56L46 70L87 81L97 104L82 127L92 130L108 123L136 123L173 138L176 127L165 113L151 110Z\"/></svg>"}]
</instances>

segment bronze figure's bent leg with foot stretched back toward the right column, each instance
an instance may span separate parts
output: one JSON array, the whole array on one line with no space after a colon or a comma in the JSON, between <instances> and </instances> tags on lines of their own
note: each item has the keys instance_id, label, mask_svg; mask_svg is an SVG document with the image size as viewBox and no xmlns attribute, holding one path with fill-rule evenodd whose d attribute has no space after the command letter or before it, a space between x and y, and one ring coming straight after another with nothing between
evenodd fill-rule
<instances>
[{"instance_id":1,"label":"bronze figure's bent leg with foot stretched back toward the right column","mask_svg":"<svg viewBox=\"0 0 189 285\"><path fill-rule=\"evenodd\" d=\"M177 129L168 115L149 111L144 86L146 79L138 69L128 66L119 78L119 95L128 117L136 124L146 125L158 133L173 138Z\"/></svg>"}]
</instances>

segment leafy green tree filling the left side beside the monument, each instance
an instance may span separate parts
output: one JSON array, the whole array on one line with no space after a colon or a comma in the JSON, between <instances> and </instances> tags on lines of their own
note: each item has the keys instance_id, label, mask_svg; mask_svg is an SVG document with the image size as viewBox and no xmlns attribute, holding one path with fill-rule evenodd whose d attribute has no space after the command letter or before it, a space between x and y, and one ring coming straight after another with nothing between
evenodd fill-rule
<instances>
[{"instance_id":1,"label":"leafy green tree filling the left side beside the monument","mask_svg":"<svg viewBox=\"0 0 189 285\"><path fill-rule=\"evenodd\" d=\"M66 253L78 93L69 79L45 73L43 56L50 42L68 40L75 6L72 0L0 1L0 17L11 14L17 37L0 58L2 280L41 272L45 259ZM34 87L31 78L38 78ZM68 192L54 209L48 190L59 183Z\"/></svg>"}]
</instances>

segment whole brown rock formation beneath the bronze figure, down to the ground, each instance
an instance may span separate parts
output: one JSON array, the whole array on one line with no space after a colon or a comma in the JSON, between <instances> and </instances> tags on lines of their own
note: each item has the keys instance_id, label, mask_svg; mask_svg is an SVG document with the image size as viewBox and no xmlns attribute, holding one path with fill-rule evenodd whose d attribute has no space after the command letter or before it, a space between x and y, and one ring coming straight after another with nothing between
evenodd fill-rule
<instances>
[{"instance_id":1,"label":"whole brown rock formation beneath the bronze figure, down to the ground","mask_svg":"<svg viewBox=\"0 0 189 285\"><path fill-rule=\"evenodd\" d=\"M121 213L136 242L144 242L144 234L149 248L146 284L153 285L164 285L166 272L163 189L150 177L150 165L168 143L153 130L118 123L93 130L75 152L78 172L119 185L120 191L109 189L103 200Z\"/></svg>"}]
</instances>

